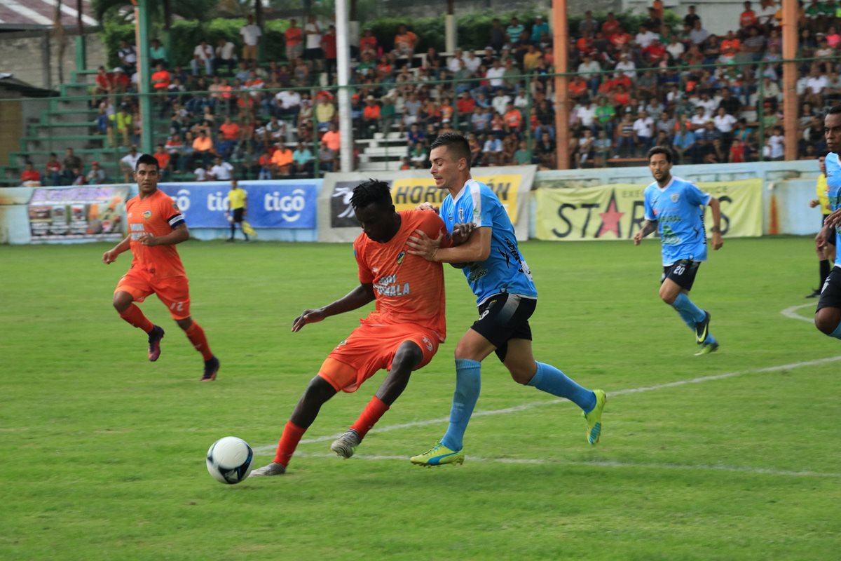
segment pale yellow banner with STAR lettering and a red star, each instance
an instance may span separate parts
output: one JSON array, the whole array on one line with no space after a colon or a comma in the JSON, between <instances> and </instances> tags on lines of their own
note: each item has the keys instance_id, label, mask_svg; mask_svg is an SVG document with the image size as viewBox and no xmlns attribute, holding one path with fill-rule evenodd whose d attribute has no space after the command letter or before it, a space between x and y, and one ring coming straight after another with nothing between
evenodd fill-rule
<instances>
[{"instance_id":1,"label":"pale yellow banner with STAR lettering and a red star","mask_svg":"<svg viewBox=\"0 0 841 561\"><path fill-rule=\"evenodd\" d=\"M722 234L762 236L762 180L697 183L721 203ZM631 240L645 221L644 185L537 189L537 239ZM707 236L712 213L704 214Z\"/></svg>"}]
</instances>

